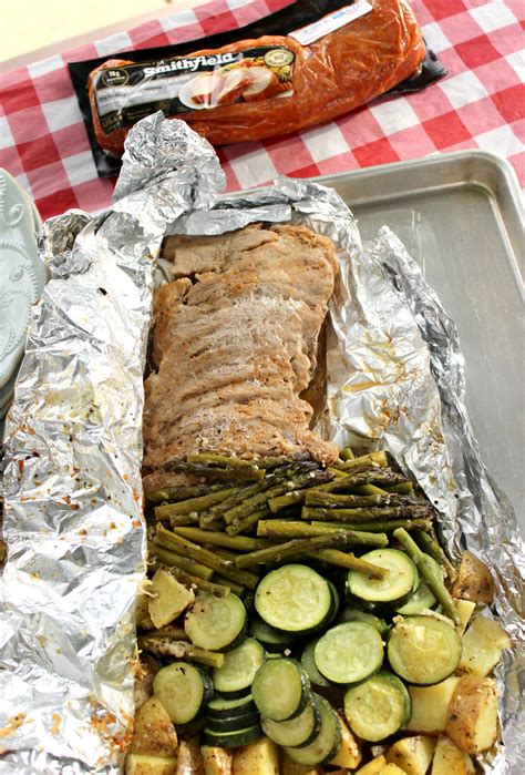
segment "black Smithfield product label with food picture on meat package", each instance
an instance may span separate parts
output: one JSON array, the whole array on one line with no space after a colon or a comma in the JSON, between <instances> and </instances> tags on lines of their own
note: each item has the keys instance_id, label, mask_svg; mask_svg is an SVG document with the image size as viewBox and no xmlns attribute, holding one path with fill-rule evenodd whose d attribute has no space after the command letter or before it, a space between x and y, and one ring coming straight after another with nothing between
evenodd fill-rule
<instances>
[{"instance_id":1,"label":"black Smithfield product label with food picture on meat package","mask_svg":"<svg viewBox=\"0 0 525 775\"><path fill-rule=\"evenodd\" d=\"M295 53L285 47L174 57L102 69L96 106L106 134L157 110L166 116L289 96Z\"/></svg>"}]
</instances>

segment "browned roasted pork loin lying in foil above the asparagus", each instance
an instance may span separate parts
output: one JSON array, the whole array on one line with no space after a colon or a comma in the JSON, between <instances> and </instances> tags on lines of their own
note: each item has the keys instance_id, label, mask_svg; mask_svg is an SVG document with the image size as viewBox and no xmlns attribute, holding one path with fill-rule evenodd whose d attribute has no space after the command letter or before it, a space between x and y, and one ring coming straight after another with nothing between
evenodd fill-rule
<instances>
[{"instance_id":1,"label":"browned roasted pork loin lying in foil above the asparagus","mask_svg":"<svg viewBox=\"0 0 525 775\"><path fill-rule=\"evenodd\" d=\"M338 271L330 239L303 226L257 224L167 237L163 255L176 279L154 299L144 411L150 486L176 483L165 466L203 450L337 459L336 447L309 430L312 408L299 397Z\"/></svg>"}]
</instances>

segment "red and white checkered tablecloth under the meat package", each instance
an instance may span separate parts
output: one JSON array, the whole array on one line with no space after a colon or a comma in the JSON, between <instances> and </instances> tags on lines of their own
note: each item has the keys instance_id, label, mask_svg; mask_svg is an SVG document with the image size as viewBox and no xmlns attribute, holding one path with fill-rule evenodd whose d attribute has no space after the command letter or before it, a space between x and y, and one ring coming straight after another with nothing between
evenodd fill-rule
<instances>
[{"instance_id":1,"label":"red and white checkered tablecloth under the meat package","mask_svg":"<svg viewBox=\"0 0 525 775\"><path fill-rule=\"evenodd\" d=\"M43 217L106 206L114 181L97 177L66 62L222 32L289 2L214 0L2 74L0 166ZM449 70L444 80L285 139L220 149L228 190L469 147L508 159L525 187L525 2L413 0L413 8Z\"/></svg>"}]
</instances>

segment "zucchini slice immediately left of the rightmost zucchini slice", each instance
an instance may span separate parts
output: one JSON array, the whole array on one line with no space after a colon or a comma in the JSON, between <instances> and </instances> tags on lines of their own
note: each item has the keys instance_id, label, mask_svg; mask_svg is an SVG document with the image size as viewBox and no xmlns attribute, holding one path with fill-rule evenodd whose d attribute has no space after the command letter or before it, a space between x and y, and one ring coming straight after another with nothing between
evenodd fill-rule
<instances>
[{"instance_id":1,"label":"zucchini slice immediately left of the rightmost zucchini slice","mask_svg":"<svg viewBox=\"0 0 525 775\"><path fill-rule=\"evenodd\" d=\"M381 635L366 622L337 624L318 640L317 669L333 683L357 683L375 673L384 656Z\"/></svg>"}]
</instances>

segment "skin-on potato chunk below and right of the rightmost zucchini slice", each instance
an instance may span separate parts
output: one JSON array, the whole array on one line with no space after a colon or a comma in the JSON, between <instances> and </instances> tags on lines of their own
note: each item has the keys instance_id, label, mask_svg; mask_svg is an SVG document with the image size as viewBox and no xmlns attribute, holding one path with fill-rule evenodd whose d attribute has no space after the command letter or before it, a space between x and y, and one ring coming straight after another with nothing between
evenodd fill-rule
<instances>
[{"instance_id":1,"label":"skin-on potato chunk below and right of the rightmost zucchini slice","mask_svg":"<svg viewBox=\"0 0 525 775\"><path fill-rule=\"evenodd\" d=\"M497 737L497 693L492 679L465 675L449 705L445 732L462 751L477 754Z\"/></svg>"}]
</instances>

